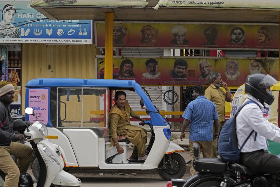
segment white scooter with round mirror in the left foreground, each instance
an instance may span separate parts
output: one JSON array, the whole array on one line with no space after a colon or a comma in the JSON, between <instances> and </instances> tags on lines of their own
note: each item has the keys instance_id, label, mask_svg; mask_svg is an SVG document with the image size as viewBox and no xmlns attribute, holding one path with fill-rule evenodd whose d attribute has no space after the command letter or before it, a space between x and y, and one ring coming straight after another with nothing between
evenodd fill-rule
<instances>
[{"instance_id":1,"label":"white scooter with round mirror in the left foreground","mask_svg":"<svg viewBox=\"0 0 280 187\"><path fill-rule=\"evenodd\" d=\"M26 108L25 113L34 115L34 110ZM63 150L46 138L48 129L45 124L34 122L26 128L24 135L34 149L40 165L37 187L81 186L80 179L62 170L64 167ZM22 185L26 184L19 184L20 187Z\"/></svg>"}]
</instances>

